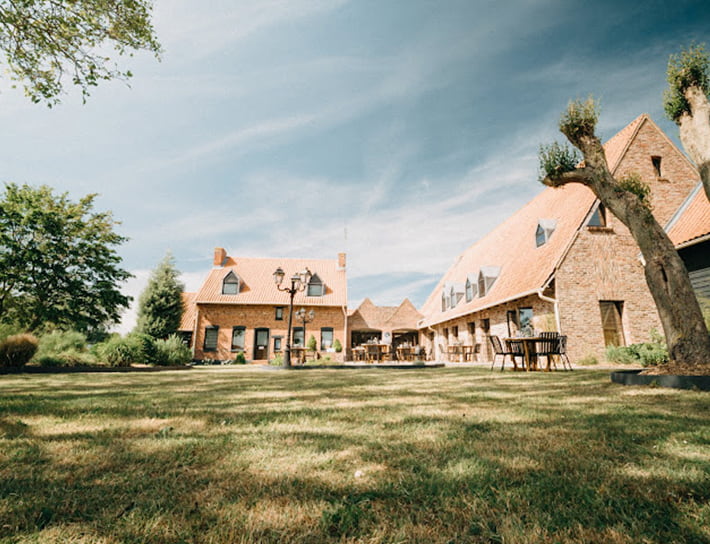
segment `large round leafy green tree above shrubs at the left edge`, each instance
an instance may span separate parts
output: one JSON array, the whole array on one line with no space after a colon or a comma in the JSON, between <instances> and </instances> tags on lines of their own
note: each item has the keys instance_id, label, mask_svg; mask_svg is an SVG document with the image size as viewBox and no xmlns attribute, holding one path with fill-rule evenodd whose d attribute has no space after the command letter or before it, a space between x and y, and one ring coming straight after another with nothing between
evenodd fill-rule
<instances>
[{"instance_id":1,"label":"large round leafy green tree above shrubs at the left edge","mask_svg":"<svg viewBox=\"0 0 710 544\"><path fill-rule=\"evenodd\" d=\"M0 200L0 321L29 330L100 331L118 321L130 277L115 247L126 241L110 212L51 188L7 184Z\"/></svg>"}]
</instances>

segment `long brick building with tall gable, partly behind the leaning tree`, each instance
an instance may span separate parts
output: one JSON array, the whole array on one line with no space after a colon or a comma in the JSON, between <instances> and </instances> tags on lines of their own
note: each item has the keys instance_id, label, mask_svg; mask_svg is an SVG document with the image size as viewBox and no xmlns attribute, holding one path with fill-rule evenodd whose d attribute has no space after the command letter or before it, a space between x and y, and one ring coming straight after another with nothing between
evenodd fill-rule
<instances>
[{"instance_id":1,"label":"long brick building with tall gable, partly behind the leaning tree","mask_svg":"<svg viewBox=\"0 0 710 544\"><path fill-rule=\"evenodd\" d=\"M661 225L698 183L692 163L645 114L604 149L613 175L648 183ZM559 331L570 357L601 359L607 345L647 341L661 328L639 257L631 234L589 189L546 188L441 278L421 309L422 337L435 357L463 343L480 344L490 358L489 334Z\"/></svg>"}]
</instances>

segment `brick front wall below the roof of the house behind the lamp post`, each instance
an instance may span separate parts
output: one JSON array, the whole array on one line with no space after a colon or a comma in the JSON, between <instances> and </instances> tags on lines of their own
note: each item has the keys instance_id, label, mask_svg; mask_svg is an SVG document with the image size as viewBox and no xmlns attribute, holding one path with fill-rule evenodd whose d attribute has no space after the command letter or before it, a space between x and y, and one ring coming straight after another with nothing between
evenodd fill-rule
<instances>
[{"instance_id":1,"label":"brick front wall below the roof of the house behind the lamp post","mask_svg":"<svg viewBox=\"0 0 710 544\"><path fill-rule=\"evenodd\" d=\"M306 306L306 310L311 308ZM294 308L294 311L300 309ZM339 306L318 306L314 307L315 318L306 324L306 341L311 335L315 336L320 348L321 328L331 327L333 329L333 341L339 340L345 346L343 330L345 326L345 316ZM245 327L246 338L244 341L245 355L247 360L254 360L255 330L265 328L269 330L268 358L274 358L274 337L282 337L282 353L286 348L286 335L288 328L288 306L284 307L283 320L276 319L276 306L270 305L226 305L226 304L201 304L198 308L197 330L195 336L195 359L234 359L236 352L232 347L232 328ZM205 328L217 326L218 341L216 351L204 351ZM301 327L302 323L294 318L293 327ZM323 353L329 355L333 360L342 360L342 354Z\"/></svg>"}]
</instances>

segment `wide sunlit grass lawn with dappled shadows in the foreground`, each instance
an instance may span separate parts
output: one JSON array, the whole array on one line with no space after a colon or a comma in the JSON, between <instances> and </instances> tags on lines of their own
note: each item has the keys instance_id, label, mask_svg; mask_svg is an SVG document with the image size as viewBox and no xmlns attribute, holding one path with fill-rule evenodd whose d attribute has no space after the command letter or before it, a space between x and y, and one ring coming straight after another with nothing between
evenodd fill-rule
<instances>
[{"instance_id":1,"label":"wide sunlit grass lawn with dappled shadows in the foreground","mask_svg":"<svg viewBox=\"0 0 710 544\"><path fill-rule=\"evenodd\" d=\"M710 394L608 371L0 376L0 542L710 542Z\"/></svg>"}]
</instances>

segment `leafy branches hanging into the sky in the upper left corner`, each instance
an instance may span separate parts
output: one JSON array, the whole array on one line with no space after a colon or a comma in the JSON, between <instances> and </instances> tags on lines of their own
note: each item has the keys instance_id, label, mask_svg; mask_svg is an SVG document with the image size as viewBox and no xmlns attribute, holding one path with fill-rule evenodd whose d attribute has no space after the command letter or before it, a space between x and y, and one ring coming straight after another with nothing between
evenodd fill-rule
<instances>
[{"instance_id":1,"label":"leafy branches hanging into the sky in the upper left corner","mask_svg":"<svg viewBox=\"0 0 710 544\"><path fill-rule=\"evenodd\" d=\"M0 51L33 102L58 103L67 77L85 101L99 81L132 76L109 46L159 55L152 9L151 0L0 0Z\"/></svg>"}]
</instances>

